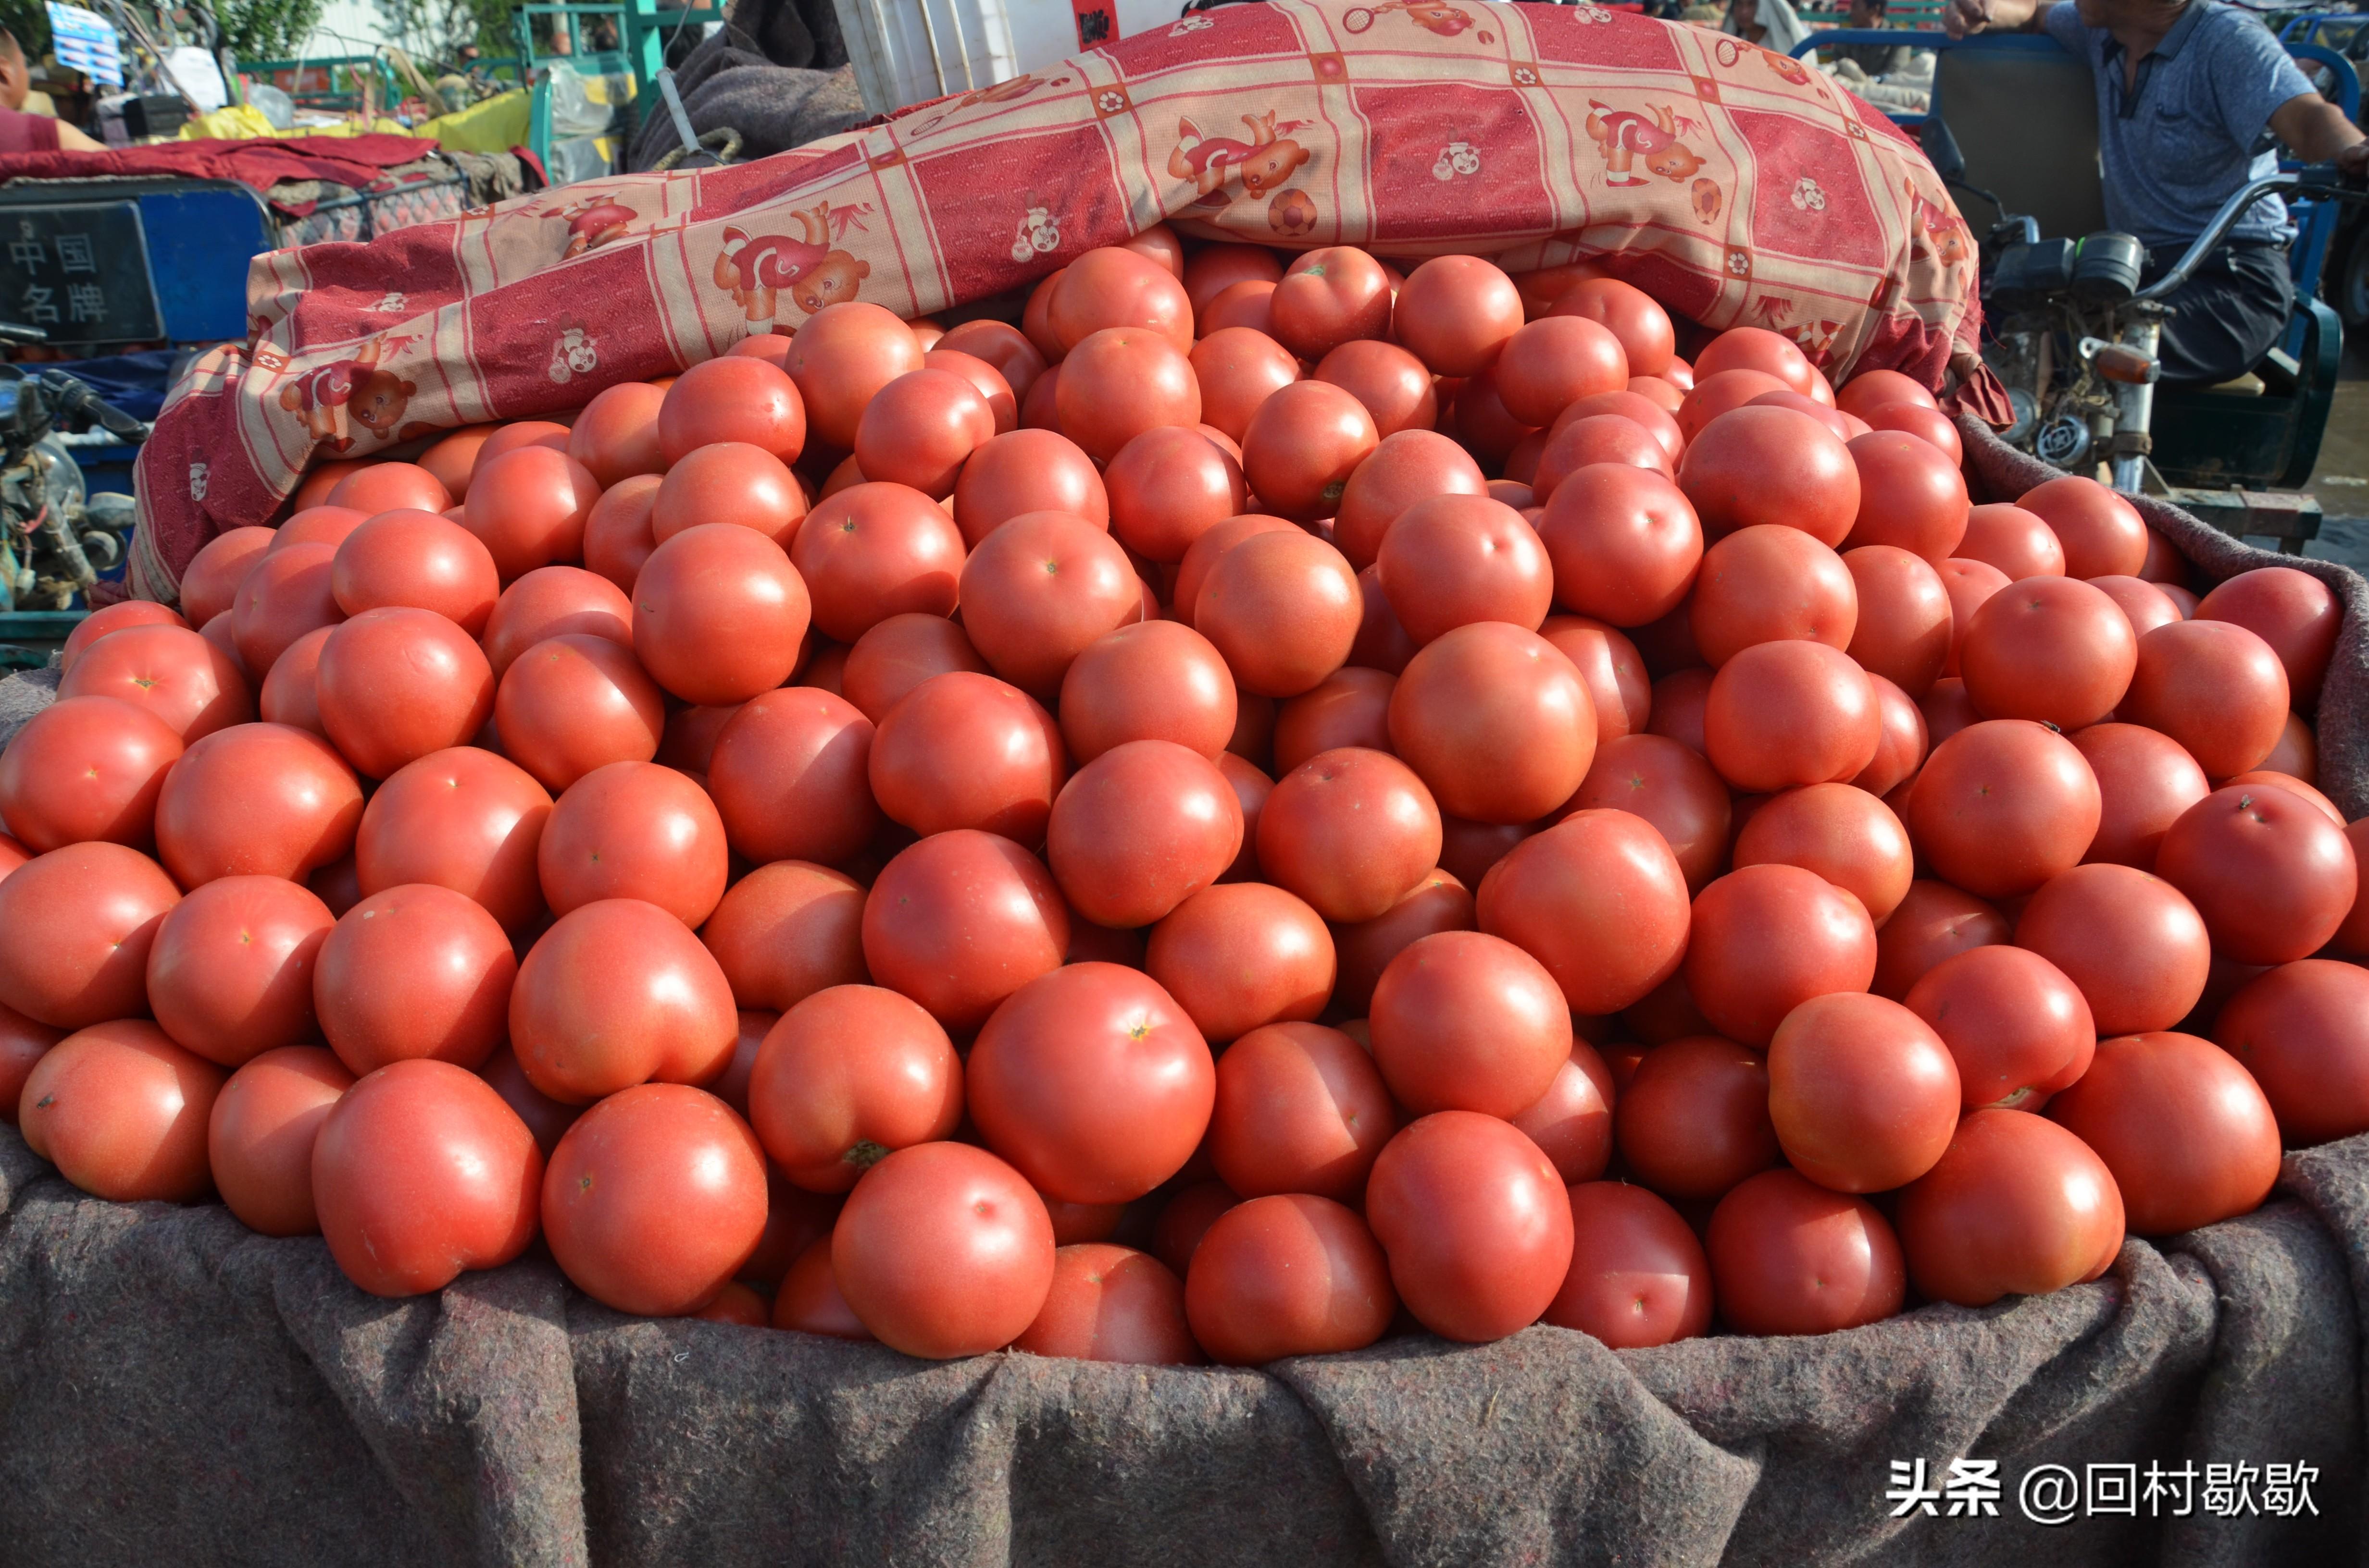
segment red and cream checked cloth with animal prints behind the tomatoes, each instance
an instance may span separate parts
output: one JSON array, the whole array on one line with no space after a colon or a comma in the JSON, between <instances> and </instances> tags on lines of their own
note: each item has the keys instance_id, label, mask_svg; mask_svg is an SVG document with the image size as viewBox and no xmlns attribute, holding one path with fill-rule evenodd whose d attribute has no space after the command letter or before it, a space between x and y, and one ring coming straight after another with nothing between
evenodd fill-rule
<instances>
[{"instance_id":1,"label":"red and cream checked cloth with animal prints behind the tomatoes","mask_svg":"<svg viewBox=\"0 0 2369 1568\"><path fill-rule=\"evenodd\" d=\"M597 206L633 218L573 227ZM1514 270L1601 256L1836 379L1940 386L1978 327L1933 168L1800 62L1594 5L1232 5L756 163L258 256L249 341L192 365L140 455L133 590L173 599L315 457L578 407L839 298L978 301L1163 218Z\"/></svg>"}]
</instances>

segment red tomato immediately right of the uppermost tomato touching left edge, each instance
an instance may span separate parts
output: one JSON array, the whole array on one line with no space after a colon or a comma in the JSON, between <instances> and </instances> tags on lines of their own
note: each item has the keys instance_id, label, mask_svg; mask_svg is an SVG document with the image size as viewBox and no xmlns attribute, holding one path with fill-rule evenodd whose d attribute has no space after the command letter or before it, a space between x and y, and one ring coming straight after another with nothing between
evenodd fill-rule
<instances>
[{"instance_id":1,"label":"red tomato immediately right of the uppermost tomato touching left edge","mask_svg":"<svg viewBox=\"0 0 2369 1568\"><path fill-rule=\"evenodd\" d=\"M166 777L156 857L185 888L216 876L301 879L351 850L360 822L362 786L327 741L287 725L232 725L190 746Z\"/></svg>"}]
</instances>

